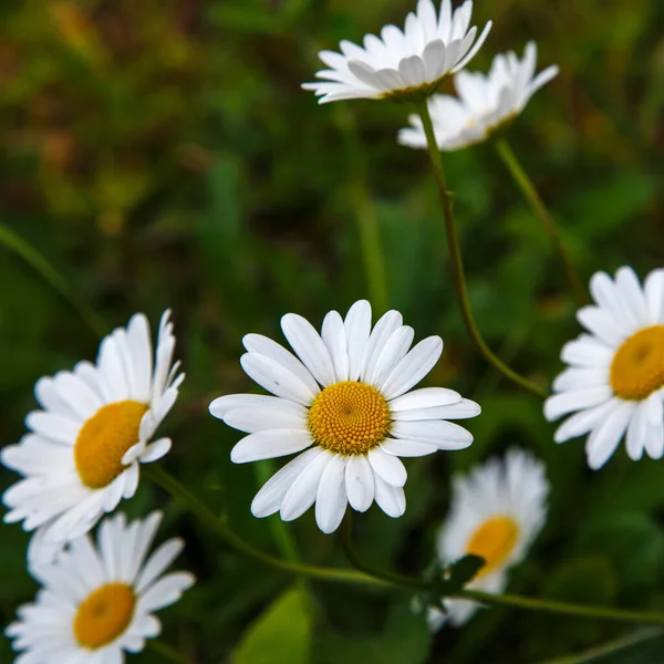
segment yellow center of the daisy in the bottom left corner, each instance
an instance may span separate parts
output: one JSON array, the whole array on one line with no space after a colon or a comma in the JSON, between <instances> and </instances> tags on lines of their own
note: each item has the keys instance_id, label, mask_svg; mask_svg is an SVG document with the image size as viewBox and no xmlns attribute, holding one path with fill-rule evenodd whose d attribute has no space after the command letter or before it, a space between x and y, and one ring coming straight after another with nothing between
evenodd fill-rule
<instances>
[{"instance_id":1,"label":"yellow center of the daisy in the bottom left corner","mask_svg":"<svg viewBox=\"0 0 664 664\"><path fill-rule=\"evenodd\" d=\"M115 641L134 616L136 594L126 583L107 583L89 594L74 618L74 636L82 647L96 650Z\"/></svg>"}]
</instances>

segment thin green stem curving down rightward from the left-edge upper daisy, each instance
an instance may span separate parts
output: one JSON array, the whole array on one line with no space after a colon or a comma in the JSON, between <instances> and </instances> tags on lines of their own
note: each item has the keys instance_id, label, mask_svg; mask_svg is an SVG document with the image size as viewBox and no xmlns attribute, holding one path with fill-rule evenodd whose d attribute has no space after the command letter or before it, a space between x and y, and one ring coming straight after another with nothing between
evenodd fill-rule
<instances>
[{"instance_id":1,"label":"thin green stem curving down rightward from the left-edge upper daisy","mask_svg":"<svg viewBox=\"0 0 664 664\"><path fill-rule=\"evenodd\" d=\"M247 556L257 562L267 564L283 572L310 577L311 579L319 579L321 581L364 583L382 587L387 585L380 579L375 579L369 574L363 574L354 570L321 568L291 560L282 560L280 558L274 558L269 553L264 553L236 535L226 523L224 523L224 521L217 518L217 516L207 507L207 505L205 505L205 502L203 502L203 500L200 500L200 498L189 491L189 489L179 483L175 477L156 466L151 466L146 468L145 471L156 484L170 494L175 500L189 509L203 523L216 532L217 536L219 536L231 549L235 549L235 551L241 553L242 556Z\"/></svg>"}]
</instances>

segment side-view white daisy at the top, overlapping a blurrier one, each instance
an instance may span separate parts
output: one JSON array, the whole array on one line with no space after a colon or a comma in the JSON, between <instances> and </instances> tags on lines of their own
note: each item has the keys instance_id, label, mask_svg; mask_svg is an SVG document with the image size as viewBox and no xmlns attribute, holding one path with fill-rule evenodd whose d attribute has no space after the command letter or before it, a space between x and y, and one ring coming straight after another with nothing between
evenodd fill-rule
<instances>
[{"instance_id":1,"label":"side-view white daisy at the top, overlapping a blurrier one","mask_svg":"<svg viewBox=\"0 0 664 664\"><path fill-rule=\"evenodd\" d=\"M470 62L484 43L489 21L476 40L470 24L473 2L466 0L453 13L450 0L443 0L439 13L432 0L419 0L417 11L406 17L403 32L385 25L381 38L367 34L364 48L342 41L341 53L321 51L330 69L315 75L323 81L304 83L319 103L350 98L417 100L435 93L445 76Z\"/></svg>"}]
</instances>

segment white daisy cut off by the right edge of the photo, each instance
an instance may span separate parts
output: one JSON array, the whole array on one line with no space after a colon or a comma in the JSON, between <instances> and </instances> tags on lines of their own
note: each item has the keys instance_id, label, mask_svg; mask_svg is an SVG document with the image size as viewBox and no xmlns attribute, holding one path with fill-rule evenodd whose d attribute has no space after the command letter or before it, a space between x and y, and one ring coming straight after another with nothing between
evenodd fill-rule
<instances>
[{"instance_id":1,"label":"white daisy cut off by the right edge of the photo","mask_svg":"<svg viewBox=\"0 0 664 664\"><path fill-rule=\"evenodd\" d=\"M664 270L651 272L643 286L632 268L612 280L596 272L590 281L595 305L577 313L590 332L562 347L569 364L553 382L556 394L544 404L547 419L569 415L556 442L590 434L588 465L601 468L626 434L627 455L664 453Z\"/></svg>"}]
</instances>

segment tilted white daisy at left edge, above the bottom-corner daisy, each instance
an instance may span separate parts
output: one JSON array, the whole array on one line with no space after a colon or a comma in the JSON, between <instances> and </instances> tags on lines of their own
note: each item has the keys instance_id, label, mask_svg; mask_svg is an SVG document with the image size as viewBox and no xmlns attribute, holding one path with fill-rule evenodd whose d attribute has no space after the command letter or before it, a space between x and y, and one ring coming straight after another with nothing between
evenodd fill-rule
<instances>
[{"instance_id":1,"label":"tilted white daisy at left edge, above the bottom-corner daisy","mask_svg":"<svg viewBox=\"0 0 664 664\"><path fill-rule=\"evenodd\" d=\"M2 463L23 475L2 497L7 522L40 529L33 563L49 562L61 546L87 532L138 485L138 464L163 457L170 439L149 443L184 380L172 365L175 336L162 317L153 369L149 325L136 314L100 347L96 365L80 362L37 382L42 411L30 413L31 433L2 450Z\"/></svg>"}]
</instances>

